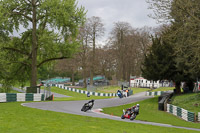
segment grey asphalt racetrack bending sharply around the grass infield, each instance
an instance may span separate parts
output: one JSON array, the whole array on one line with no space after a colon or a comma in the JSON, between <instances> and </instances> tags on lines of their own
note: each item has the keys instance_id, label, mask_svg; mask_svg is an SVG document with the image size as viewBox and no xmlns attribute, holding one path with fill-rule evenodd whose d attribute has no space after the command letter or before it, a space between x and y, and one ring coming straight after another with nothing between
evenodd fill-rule
<instances>
[{"instance_id":1,"label":"grey asphalt racetrack bending sharply around the grass infield","mask_svg":"<svg viewBox=\"0 0 200 133\"><path fill-rule=\"evenodd\" d=\"M132 122L132 123L140 123L140 124L148 124L148 125L155 125L161 127L171 127L171 128L181 128L181 129L188 129L188 130L195 130L200 131L200 129L196 128L187 128L187 127L180 127L180 126L172 126L170 124L162 124L162 123L155 123L155 122L146 122L140 120L133 120L130 121L129 119L121 119L118 116L112 116L108 114L101 113L101 108L105 107L114 107L129 103L138 102L144 99L151 98L149 96L145 96L145 92L134 94L127 98L111 98L111 99L98 99L95 100L93 109L91 111L82 112L82 106L88 102L88 100L83 101L55 101L55 102L33 102L33 103L23 103L23 106L37 108L41 110L50 110L55 112L63 112L75 115L83 115L83 116L90 116L90 117L98 117L98 118L106 118L118 121L125 121L125 122Z\"/></svg>"}]
</instances>

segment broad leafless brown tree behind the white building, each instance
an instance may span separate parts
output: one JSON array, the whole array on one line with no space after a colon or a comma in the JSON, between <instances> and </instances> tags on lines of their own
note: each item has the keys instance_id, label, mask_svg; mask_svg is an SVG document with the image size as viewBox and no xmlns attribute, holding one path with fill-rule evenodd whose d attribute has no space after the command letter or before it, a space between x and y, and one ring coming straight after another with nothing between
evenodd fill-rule
<instances>
[{"instance_id":1,"label":"broad leafless brown tree behind the white building","mask_svg":"<svg viewBox=\"0 0 200 133\"><path fill-rule=\"evenodd\" d=\"M127 22L115 23L110 43L116 57L116 77L129 81L131 75L140 76L140 65L150 44L147 27L134 29Z\"/></svg>"}]
</instances>

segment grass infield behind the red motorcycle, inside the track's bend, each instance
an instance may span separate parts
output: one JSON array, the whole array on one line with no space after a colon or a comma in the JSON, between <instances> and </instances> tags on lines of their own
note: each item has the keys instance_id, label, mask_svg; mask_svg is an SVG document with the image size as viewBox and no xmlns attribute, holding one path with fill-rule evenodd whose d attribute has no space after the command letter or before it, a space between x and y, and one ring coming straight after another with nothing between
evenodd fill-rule
<instances>
[{"instance_id":1,"label":"grass infield behind the red motorcycle, inside the track's bend","mask_svg":"<svg viewBox=\"0 0 200 133\"><path fill-rule=\"evenodd\" d=\"M173 116L172 114L166 113L164 111L159 111L158 97L140 101L138 103L140 104L140 114L136 117L137 120L151 121L157 123L171 124L174 126L193 127L200 129L200 123L186 122L176 116ZM137 103L131 103L118 107L104 108L103 112L121 117L123 109L130 108L135 104Z\"/></svg>"}]
</instances>

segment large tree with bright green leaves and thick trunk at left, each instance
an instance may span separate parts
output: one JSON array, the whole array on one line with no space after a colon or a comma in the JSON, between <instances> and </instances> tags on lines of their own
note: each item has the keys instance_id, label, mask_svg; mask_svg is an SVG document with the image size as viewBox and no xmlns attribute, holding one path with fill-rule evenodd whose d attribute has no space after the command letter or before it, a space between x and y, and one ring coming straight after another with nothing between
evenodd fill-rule
<instances>
[{"instance_id":1,"label":"large tree with bright green leaves and thick trunk at left","mask_svg":"<svg viewBox=\"0 0 200 133\"><path fill-rule=\"evenodd\" d=\"M15 63L13 72L25 71L31 86L36 86L38 67L69 58L76 51L78 27L85 16L76 0L3 0L0 11L0 25L7 32L19 31L20 26L25 29L1 48L11 57L10 63Z\"/></svg>"}]
</instances>

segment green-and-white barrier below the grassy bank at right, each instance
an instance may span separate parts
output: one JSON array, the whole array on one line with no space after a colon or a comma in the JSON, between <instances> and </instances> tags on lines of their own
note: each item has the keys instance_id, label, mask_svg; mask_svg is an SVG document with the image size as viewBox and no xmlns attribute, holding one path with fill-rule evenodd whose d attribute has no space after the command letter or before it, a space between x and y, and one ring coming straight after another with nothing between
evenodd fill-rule
<instances>
[{"instance_id":1,"label":"green-and-white barrier below the grassy bank at right","mask_svg":"<svg viewBox=\"0 0 200 133\"><path fill-rule=\"evenodd\" d=\"M175 116L178 116L186 121L190 121L190 122L196 121L195 113L185 110L183 108L180 108L178 106L174 106L172 104L167 104L167 112Z\"/></svg>"}]
</instances>

